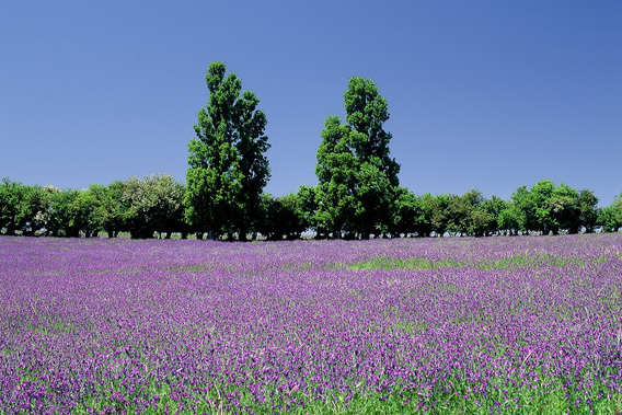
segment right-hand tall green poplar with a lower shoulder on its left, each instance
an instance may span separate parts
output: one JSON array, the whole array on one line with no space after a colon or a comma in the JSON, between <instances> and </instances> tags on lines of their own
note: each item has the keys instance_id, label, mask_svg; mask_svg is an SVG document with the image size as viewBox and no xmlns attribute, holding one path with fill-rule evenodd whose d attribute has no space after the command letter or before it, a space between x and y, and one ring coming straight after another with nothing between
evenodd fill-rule
<instances>
[{"instance_id":1,"label":"right-hand tall green poplar with a lower shoulder on its left","mask_svg":"<svg viewBox=\"0 0 622 415\"><path fill-rule=\"evenodd\" d=\"M315 169L320 182L318 220L332 226L335 235L335 227L341 226L335 220L341 218L346 230L368 239L370 233L388 230L392 223L400 164L390 157L392 136L383 128L389 119L388 104L376 84L352 77L344 104L346 124L330 116L322 130ZM352 161L336 161L339 158Z\"/></svg>"}]
</instances>

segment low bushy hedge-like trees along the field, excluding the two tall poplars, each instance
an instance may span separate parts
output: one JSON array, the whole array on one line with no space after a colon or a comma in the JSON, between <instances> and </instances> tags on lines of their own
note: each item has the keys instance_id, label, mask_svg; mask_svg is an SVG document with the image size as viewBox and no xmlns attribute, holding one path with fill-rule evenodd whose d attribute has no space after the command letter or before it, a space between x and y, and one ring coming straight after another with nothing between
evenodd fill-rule
<instances>
[{"instance_id":1,"label":"low bushy hedge-like trees along the field, excluding the two tall poplars","mask_svg":"<svg viewBox=\"0 0 622 415\"><path fill-rule=\"evenodd\" d=\"M356 218L343 217L343 224L326 219L320 207L319 186L300 186L284 196L263 193L255 212L245 218L247 234L242 239L300 239L306 232L314 238L360 239L353 224ZM120 232L135 239L185 239L208 234L188 223L184 205L186 186L171 175L152 175L116 181L107 186L94 184L87 189L59 189L54 186L24 185L8 178L0 183L0 230L3 234L46 237L115 238ZM463 195L415 195L404 187L395 189L394 203L377 222L373 237L428 238L442 235L487 237L518 234L558 234L617 232L622 229L622 194L608 207L599 208L591 191L577 191L565 184L555 186L540 181L517 188L509 200L480 191ZM352 222L350 222L352 221ZM350 227L352 226L352 227ZM222 233L219 239L240 239Z\"/></svg>"}]
</instances>

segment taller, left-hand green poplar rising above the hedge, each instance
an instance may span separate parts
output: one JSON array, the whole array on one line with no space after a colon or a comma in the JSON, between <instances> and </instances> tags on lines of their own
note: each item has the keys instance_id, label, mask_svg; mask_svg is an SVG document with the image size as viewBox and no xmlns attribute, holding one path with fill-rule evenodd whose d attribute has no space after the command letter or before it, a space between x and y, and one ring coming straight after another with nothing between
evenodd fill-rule
<instances>
[{"instance_id":1,"label":"taller, left-hand green poplar rising above the hedge","mask_svg":"<svg viewBox=\"0 0 622 415\"><path fill-rule=\"evenodd\" d=\"M235 73L226 78L222 62L211 62L206 82L207 107L198 112L196 138L188 143L186 220L210 239L238 232L244 240L256 221L262 189L269 180L264 152L266 116L260 100L242 90Z\"/></svg>"}]
</instances>

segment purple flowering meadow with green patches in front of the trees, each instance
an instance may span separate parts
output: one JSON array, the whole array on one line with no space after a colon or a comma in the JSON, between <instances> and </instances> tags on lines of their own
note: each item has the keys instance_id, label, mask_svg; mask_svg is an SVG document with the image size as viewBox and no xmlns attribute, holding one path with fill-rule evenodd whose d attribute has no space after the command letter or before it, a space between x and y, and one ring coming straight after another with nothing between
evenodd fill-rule
<instances>
[{"instance_id":1,"label":"purple flowering meadow with green patches in front of the trees","mask_svg":"<svg viewBox=\"0 0 622 415\"><path fill-rule=\"evenodd\" d=\"M0 237L0 413L622 413L622 234Z\"/></svg>"}]
</instances>

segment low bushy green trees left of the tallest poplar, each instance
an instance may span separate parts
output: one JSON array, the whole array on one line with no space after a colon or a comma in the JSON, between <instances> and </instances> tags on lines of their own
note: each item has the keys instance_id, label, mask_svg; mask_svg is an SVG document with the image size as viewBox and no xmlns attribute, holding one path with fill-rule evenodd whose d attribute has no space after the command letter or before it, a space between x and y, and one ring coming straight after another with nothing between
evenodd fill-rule
<instances>
[{"instance_id":1,"label":"low bushy green trees left of the tallest poplar","mask_svg":"<svg viewBox=\"0 0 622 415\"><path fill-rule=\"evenodd\" d=\"M170 175L114 182L88 189L24 186L5 180L0 186L0 211L5 233L48 237L110 238L129 231L133 238L153 232L184 232L184 185Z\"/></svg>"}]
</instances>

